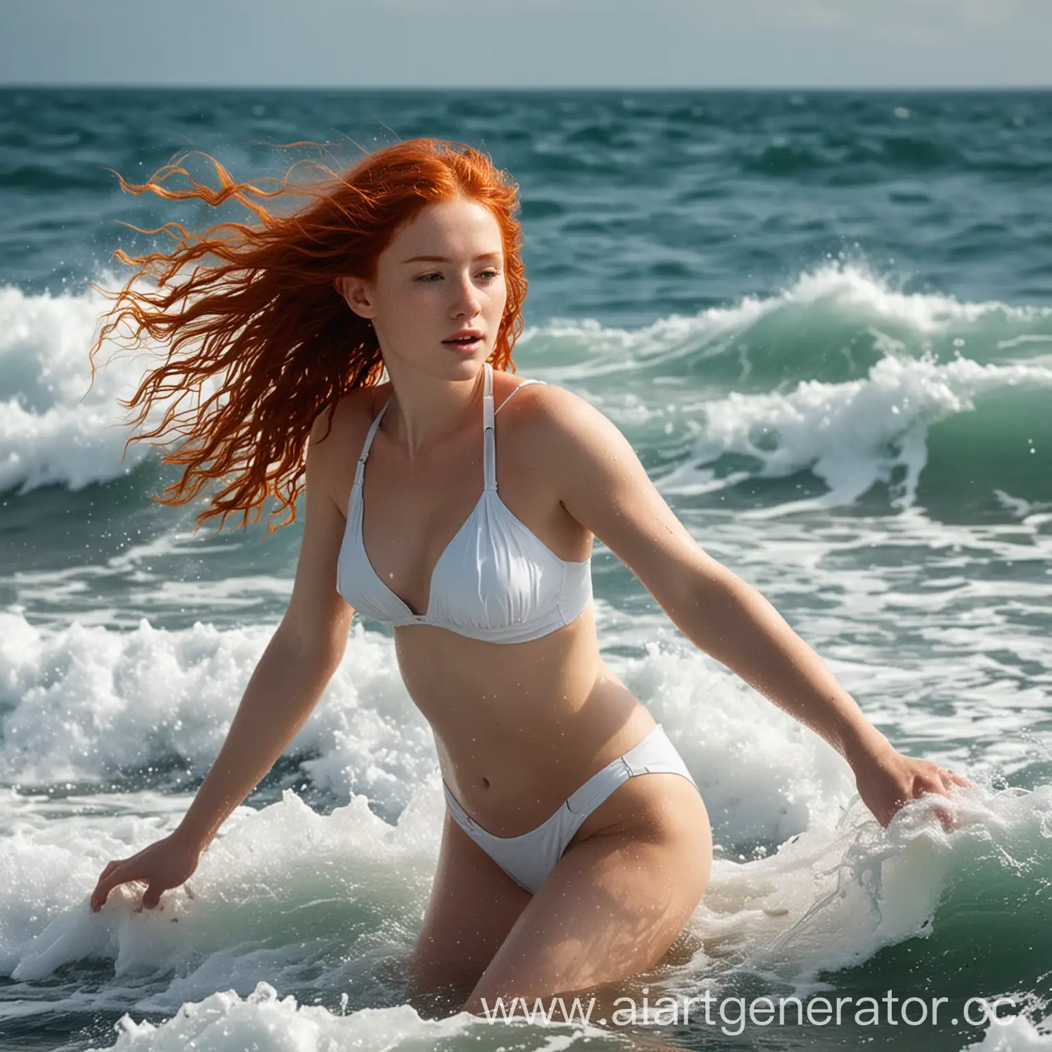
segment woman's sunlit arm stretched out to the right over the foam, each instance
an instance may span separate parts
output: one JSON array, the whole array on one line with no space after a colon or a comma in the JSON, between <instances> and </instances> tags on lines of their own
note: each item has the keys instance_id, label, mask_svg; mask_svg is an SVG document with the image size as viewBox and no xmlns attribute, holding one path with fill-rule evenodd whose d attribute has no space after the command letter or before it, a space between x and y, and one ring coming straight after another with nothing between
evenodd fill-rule
<instances>
[{"instance_id":1,"label":"woman's sunlit arm stretched out to the right over the foam","mask_svg":"<svg viewBox=\"0 0 1052 1052\"><path fill-rule=\"evenodd\" d=\"M882 825L910 800L968 784L892 748L774 607L701 549L598 409L552 386L529 416L563 507L642 581L695 646L841 752Z\"/></svg>"}]
</instances>

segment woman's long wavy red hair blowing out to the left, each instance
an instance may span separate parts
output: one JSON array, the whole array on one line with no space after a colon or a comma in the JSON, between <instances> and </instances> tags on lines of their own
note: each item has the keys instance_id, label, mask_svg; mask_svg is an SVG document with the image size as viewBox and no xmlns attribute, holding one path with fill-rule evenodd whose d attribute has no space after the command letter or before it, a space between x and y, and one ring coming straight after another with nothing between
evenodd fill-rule
<instances>
[{"instance_id":1,"label":"woman's long wavy red hair blowing out to the left","mask_svg":"<svg viewBox=\"0 0 1052 1052\"><path fill-rule=\"evenodd\" d=\"M163 364L150 369L135 394L120 404L138 407L130 421L140 425L155 400L171 398L161 423L133 434L125 443L157 439L171 431L185 439L162 463L186 465L182 478L164 488L161 504L185 504L209 480L223 488L196 518L199 525L242 512L239 526L257 522L261 506L274 497L287 510L267 533L296 518L302 489L304 450L311 425L326 407L331 425L337 400L359 387L379 383L383 361L371 325L347 306L333 279L376 277L377 258L396 230L426 205L466 198L495 218L504 249L507 305L490 363L514 370L511 349L522 332L526 279L518 221L519 188L484 154L470 146L436 139L411 139L367 155L337 174L317 162L322 178L294 183L294 165L280 186L266 190L235 181L208 155L220 188L198 182L183 167L186 154L160 168L142 184L126 182L130 194L157 194L176 201L198 200L211 206L227 201L250 209L258 223L222 222L203 234L165 223L140 234L165 234L170 252L130 257L114 255L137 267L119 292L99 289L115 305L102 316L92 346L95 357L105 339L129 324L133 348L148 337L166 348ZM184 176L190 187L165 185ZM276 215L265 200L306 198L289 215ZM140 279L153 279L143 288ZM135 287L136 285L140 287ZM203 385L214 382L204 397ZM191 406L181 409L184 399ZM327 433L327 432L326 432ZM162 443L155 443L162 444Z\"/></svg>"}]
</instances>

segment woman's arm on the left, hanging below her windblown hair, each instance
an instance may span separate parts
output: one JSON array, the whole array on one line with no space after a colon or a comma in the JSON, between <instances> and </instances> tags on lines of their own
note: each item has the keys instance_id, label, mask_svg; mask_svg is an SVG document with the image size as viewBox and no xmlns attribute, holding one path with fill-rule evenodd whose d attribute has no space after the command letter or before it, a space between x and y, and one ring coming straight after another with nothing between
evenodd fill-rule
<instances>
[{"instance_id":1,"label":"woman's arm on the left, hanging below her windblown hair","mask_svg":"<svg viewBox=\"0 0 1052 1052\"><path fill-rule=\"evenodd\" d=\"M343 659L355 611L336 590L346 521L333 497L333 482L340 462L345 464L349 458L339 438L344 432L337 426L339 410L331 431L321 441L326 416L323 412L315 421L307 447L303 539L285 615L182 822L163 839L106 866L92 893L96 912L118 885L145 883L143 906L153 908L163 891L189 877L220 826L306 723Z\"/></svg>"}]
</instances>

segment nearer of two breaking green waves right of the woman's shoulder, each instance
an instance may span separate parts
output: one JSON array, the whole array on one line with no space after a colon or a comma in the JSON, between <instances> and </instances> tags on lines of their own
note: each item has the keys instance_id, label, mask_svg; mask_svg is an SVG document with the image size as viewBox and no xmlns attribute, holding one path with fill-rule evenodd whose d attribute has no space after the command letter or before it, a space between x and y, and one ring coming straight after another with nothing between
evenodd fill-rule
<instances>
[{"instance_id":1,"label":"nearer of two breaking green waves right of the woman's shoulder","mask_svg":"<svg viewBox=\"0 0 1052 1052\"><path fill-rule=\"evenodd\" d=\"M985 405L984 397L998 401ZM785 393L731 392L697 407L701 434L691 459L663 480L663 488L734 485L741 471L721 481L713 465L736 457L748 461L745 478L783 479L807 470L827 487L821 495L771 509L778 513L848 506L878 483L889 488L892 506L911 507L922 473L944 493L956 489L957 497L966 484L974 490L978 478L990 502L998 487L1041 500L1052 497L1050 399L1052 366L980 365L965 358L938 363L888 357L864 380L807 381ZM1028 423L1018 431L1025 411ZM958 427L955 419L965 414L968 422ZM952 429L942 434L939 425ZM1008 441L1013 429L1015 441Z\"/></svg>"}]
</instances>

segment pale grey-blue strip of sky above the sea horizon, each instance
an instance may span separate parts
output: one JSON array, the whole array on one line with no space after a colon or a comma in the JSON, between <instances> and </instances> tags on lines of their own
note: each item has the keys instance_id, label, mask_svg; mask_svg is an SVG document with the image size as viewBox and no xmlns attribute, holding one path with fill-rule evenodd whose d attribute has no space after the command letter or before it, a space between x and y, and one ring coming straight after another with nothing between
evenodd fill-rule
<instances>
[{"instance_id":1,"label":"pale grey-blue strip of sky above the sea horizon","mask_svg":"<svg viewBox=\"0 0 1052 1052\"><path fill-rule=\"evenodd\" d=\"M0 83L1047 87L1052 0L0 0Z\"/></svg>"}]
</instances>

